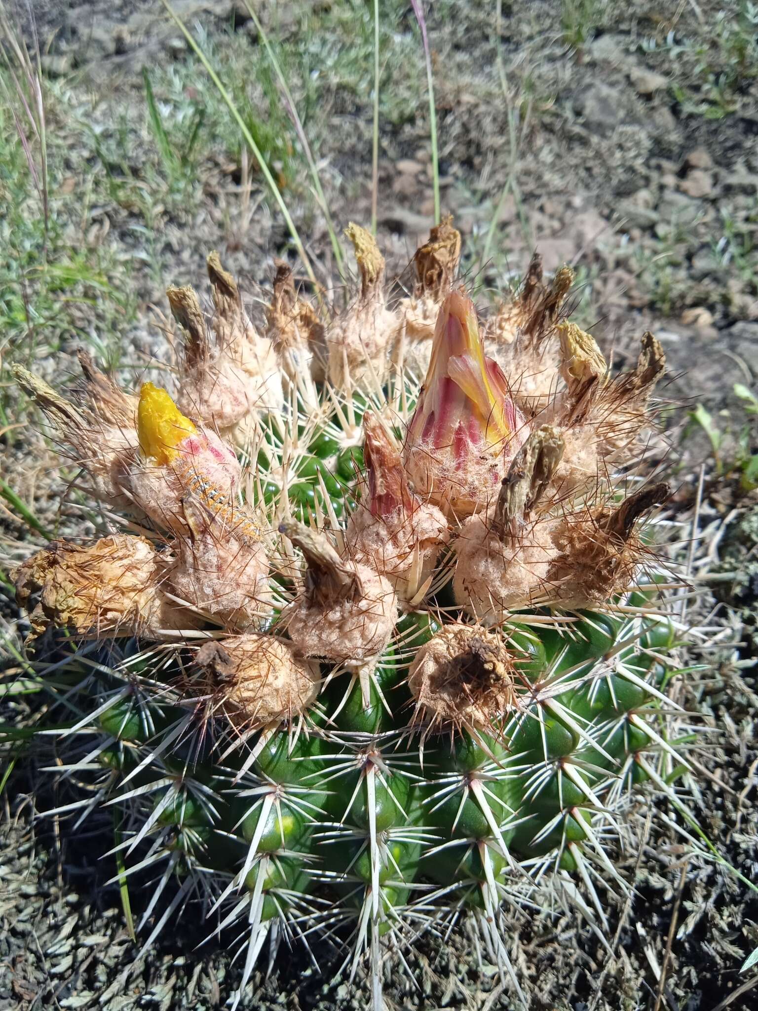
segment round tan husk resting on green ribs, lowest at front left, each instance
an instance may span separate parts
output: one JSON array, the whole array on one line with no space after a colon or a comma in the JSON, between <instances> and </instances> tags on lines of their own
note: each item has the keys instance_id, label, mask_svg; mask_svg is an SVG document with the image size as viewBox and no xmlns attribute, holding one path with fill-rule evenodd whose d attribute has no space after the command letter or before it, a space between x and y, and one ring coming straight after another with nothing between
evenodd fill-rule
<instances>
[{"instance_id":1,"label":"round tan husk resting on green ribs, lowest at front left","mask_svg":"<svg viewBox=\"0 0 758 1011\"><path fill-rule=\"evenodd\" d=\"M240 730L292 720L318 696L318 670L273 636L242 635L207 642L195 654L192 688L211 695Z\"/></svg>"}]
</instances>

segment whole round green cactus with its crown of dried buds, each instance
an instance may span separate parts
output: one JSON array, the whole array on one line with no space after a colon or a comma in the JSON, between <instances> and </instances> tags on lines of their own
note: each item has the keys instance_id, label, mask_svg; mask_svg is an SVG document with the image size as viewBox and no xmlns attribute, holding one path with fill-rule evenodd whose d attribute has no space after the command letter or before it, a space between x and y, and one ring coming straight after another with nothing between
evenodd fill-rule
<instances>
[{"instance_id":1,"label":"whole round green cactus with its crown of dried buds","mask_svg":"<svg viewBox=\"0 0 758 1011\"><path fill-rule=\"evenodd\" d=\"M605 924L630 793L683 762L644 526L668 489L633 476L664 358L646 334L611 377L565 318L571 270L537 257L480 321L451 219L397 304L347 234L344 312L280 264L259 334L212 255L211 340L169 289L176 402L86 357L69 398L16 370L107 508L19 567L18 600L80 675L63 774L93 789L69 810L120 808L161 871L146 920L178 882L149 942L200 896L244 936L235 1004L267 937L320 932L378 1009L387 952L465 913L527 1003L503 904L548 882Z\"/></svg>"}]
</instances>

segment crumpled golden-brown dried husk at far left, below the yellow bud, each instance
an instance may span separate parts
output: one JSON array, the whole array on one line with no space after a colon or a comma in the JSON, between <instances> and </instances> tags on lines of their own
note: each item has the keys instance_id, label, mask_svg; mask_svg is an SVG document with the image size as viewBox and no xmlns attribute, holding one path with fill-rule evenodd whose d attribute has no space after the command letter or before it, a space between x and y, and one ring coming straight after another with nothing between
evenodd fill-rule
<instances>
[{"instance_id":1,"label":"crumpled golden-brown dried husk at far left, below the yellow bud","mask_svg":"<svg viewBox=\"0 0 758 1011\"><path fill-rule=\"evenodd\" d=\"M197 628L163 587L163 561L143 537L114 535L92 544L54 541L14 573L18 603L34 635L46 628L89 639Z\"/></svg>"}]
</instances>

